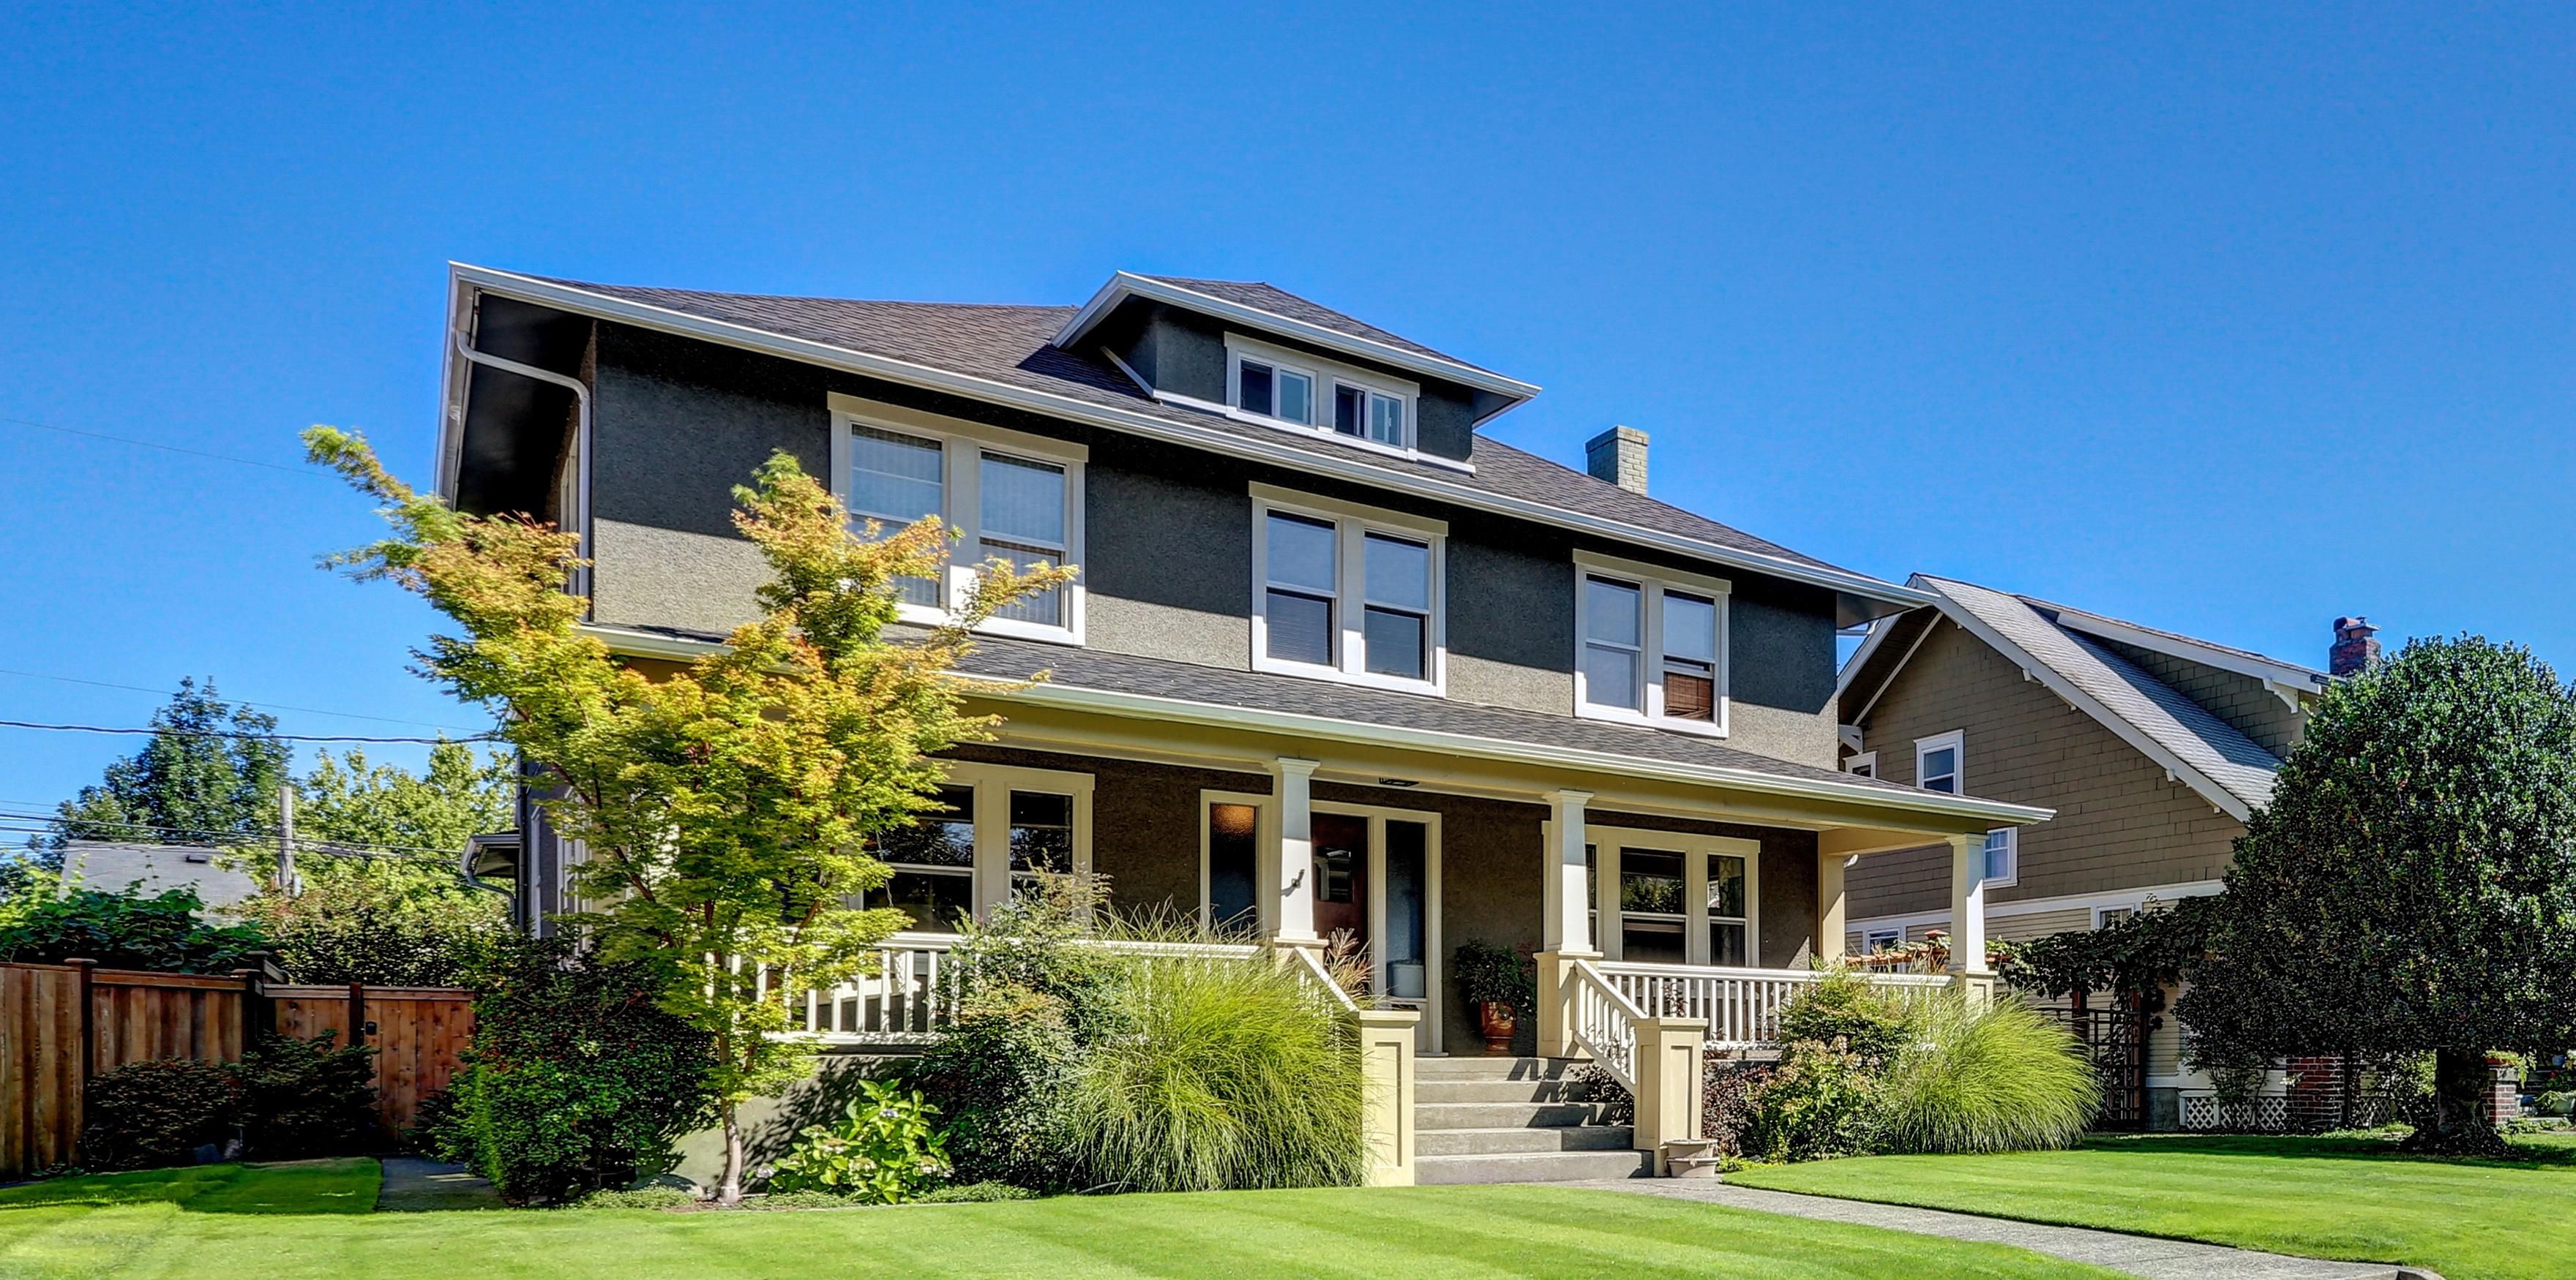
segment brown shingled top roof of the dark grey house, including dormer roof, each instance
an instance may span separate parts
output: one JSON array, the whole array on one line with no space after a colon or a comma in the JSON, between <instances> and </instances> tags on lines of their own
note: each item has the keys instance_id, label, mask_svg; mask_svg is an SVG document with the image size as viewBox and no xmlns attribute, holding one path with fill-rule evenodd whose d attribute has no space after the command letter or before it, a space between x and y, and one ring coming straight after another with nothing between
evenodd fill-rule
<instances>
[{"instance_id":1,"label":"brown shingled top roof of the dark grey house, including dormer roof","mask_svg":"<svg viewBox=\"0 0 2576 1280\"><path fill-rule=\"evenodd\" d=\"M1054 335L1056 330L1064 327L1066 319L1072 319L1074 306L799 299L778 294L706 294L696 288L652 288L652 286L626 286L626 283L562 281L541 276L531 278L562 288L574 288L582 294L598 294L605 299L621 299L644 306L659 306L665 312L680 312L688 317L742 325L747 330L773 332L781 337L822 343L863 355L884 355L948 373L966 373L974 379L999 381L1005 386L1046 391L1084 404L1100 404L1121 412L1162 417L1170 422L1190 425L1195 430L1216 430L1247 440L1260 440L1265 446L1291 446L1306 453L1334 456L1334 458L1350 456L1350 448L1334 440L1260 428L1252 422L1239 422L1226 415L1198 412L1182 404L1159 402L1108 361L1056 348ZM1358 319L1296 299L1293 294L1283 294L1267 283L1229 283L1229 281L1164 281L1164 283L1175 283L1180 288L1226 286L1242 294L1229 301L1244 301L1257 296L1267 299L1262 301L1262 306L1278 304L1278 299L1288 299L1301 309L1311 312L1301 314L1298 319L1321 325L1324 319L1319 317L1332 317L1334 325L1355 325L1358 330L1352 332L1360 332L1363 337L1378 343L1386 340L1401 343L1383 330L1360 325ZM1412 343L1404 345L1427 353L1432 358L1450 361L1450 355L1440 355L1430 348L1417 348ZM1584 471L1553 464L1535 453L1492 440L1481 433L1473 438L1471 453L1466 458L1466 464L1473 471L1458 471L1453 466L1437 466L1427 461L1412 461L1383 453L1370 453L1368 464L1419 479L1437 479L1443 484L1463 484L1471 489L1484 489L1499 497L1515 497L1522 502L1540 502L1558 510L1587 513L1654 533L1669 533L1680 538L1716 543L1731 551L1780 559L1785 564L1826 569L1834 574L1852 574L1868 579L1868 574L1857 574L1855 569L1842 569L1837 564L1803 556L1775 541L1757 538L1752 533L1723 525L1705 515L1687 513L1669 502L1656 502L1646 494L1620 489L1618 484L1592 479Z\"/></svg>"}]
</instances>

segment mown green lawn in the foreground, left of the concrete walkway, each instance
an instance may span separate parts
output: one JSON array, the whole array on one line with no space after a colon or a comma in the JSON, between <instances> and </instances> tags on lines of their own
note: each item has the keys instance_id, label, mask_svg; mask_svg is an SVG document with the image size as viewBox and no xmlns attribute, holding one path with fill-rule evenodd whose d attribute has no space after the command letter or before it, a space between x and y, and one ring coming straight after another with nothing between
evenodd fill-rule
<instances>
[{"instance_id":1,"label":"mown green lawn in the foreground, left of the concrete walkway","mask_svg":"<svg viewBox=\"0 0 2576 1280\"><path fill-rule=\"evenodd\" d=\"M2110 1275L1991 1244L1556 1187L819 1213L366 1213L374 1195L376 1164L363 1159L10 1187L0 1190L0 1275Z\"/></svg>"}]
</instances>

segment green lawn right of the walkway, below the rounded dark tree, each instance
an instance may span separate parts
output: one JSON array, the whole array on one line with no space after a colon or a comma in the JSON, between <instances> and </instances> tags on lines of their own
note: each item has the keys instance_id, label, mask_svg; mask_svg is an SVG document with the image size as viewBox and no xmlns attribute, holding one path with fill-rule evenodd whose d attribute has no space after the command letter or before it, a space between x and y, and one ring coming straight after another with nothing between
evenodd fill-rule
<instances>
[{"instance_id":1,"label":"green lawn right of the walkway, below the rounded dark tree","mask_svg":"<svg viewBox=\"0 0 2576 1280\"><path fill-rule=\"evenodd\" d=\"M2409 1262L2450 1280L2576 1275L2576 1138L2512 1162L2398 1156L2367 1138L2097 1138L2012 1156L1870 1156L1726 1174L1775 1187L2282 1254Z\"/></svg>"}]
</instances>

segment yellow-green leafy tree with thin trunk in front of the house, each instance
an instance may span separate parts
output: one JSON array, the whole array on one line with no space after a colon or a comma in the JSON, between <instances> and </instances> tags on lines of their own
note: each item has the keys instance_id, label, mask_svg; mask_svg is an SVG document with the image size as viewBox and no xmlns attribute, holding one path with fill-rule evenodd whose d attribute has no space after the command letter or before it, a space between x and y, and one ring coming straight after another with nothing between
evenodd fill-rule
<instances>
[{"instance_id":1,"label":"yellow-green leafy tree with thin trunk in front of the house","mask_svg":"<svg viewBox=\"0 0 2576 1280\"><path fill-rule=\"evenodd\" d=\"M886 881L868 837L935 806L933 752L989 737L953 675L969 626L1072 579L987 561L953 623L894 641L904 579L945 569L951 531L920 520L853 538L848 510L786 453L734 489L737 528L768 559L762 618L726 646L654 677L580 628L567 592L577 538L526 518L479 518L402 484L363 438L304 435L384 502L394 536L335 556L389 577L461 626L420 652L430 680L502 713L546 773L549 822L582 842L574 917L608 961L652 966L662 1007L711 1043L706 1082L724 1123L719 1200L742 1198L742 1102L811 1071L783 1038L791 992L855 974L909 917L848 907Z\"/></svg>"}]
</instances>

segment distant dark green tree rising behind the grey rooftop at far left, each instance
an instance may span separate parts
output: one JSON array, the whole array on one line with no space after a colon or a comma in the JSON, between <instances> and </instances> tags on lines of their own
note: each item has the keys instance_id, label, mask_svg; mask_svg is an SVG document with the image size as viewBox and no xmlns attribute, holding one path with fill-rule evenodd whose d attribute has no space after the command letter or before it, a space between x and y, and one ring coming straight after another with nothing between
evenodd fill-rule
<instances>
[{"instance_id":1,"label":"distant dark green tree rising behind the grey rooftop at far left","mask_svg":"<svg viewBox=\"0 0 2576 1280\"><path fill-rule=\"evenodd\" d=\"M49 868L72 840L157 845L247 845L278 822L278 786L294 747L278 742L278 719L216 698L214 680L178 682L170 706L152 713L152 742L108 765L98 786L62 801Z\"/></svg>"}]
</instances>

